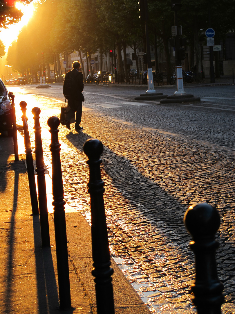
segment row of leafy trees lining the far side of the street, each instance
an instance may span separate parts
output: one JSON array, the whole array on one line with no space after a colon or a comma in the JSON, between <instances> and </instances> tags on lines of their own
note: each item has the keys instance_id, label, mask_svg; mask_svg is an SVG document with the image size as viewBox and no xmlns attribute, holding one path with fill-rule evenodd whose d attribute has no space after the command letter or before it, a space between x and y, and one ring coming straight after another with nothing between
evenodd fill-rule
<instances>
[{"instance_id":1,"label":"row of leafy trees lining the far side of the street","mask_svg":"<svg viewBox=\"0 0 235 314\"><path fill-rule=\"evenodd\" d=\"M197 72L201 73L199 43L206 41L205 30L213 27L216 44L227 32L234 31L235 4L229 0L182 0L181 3L178 17L183 37L187 37L191 47L190 66L193 67L195 56ZM164 47L170 75L168 39L174 25L171 2L148 0L148 9L150 42L154 46L155 39L157 45ZM68 64L68 55L79 51L80 57L86 55L90 64L92 53L99 51L102 56L115 45L118 75L123 77L127 73L126 47L134 49L136 60L138 47L144 46L146 51L144 23L138 17L138 0L44 0L37 4L28 25L9 47L7 62L15 71L37 72L44 51L47 68L54 64L55 72L60 74L61 53ZM83 64L81 67L84 69Z\"/></svg>"}]
</instances>

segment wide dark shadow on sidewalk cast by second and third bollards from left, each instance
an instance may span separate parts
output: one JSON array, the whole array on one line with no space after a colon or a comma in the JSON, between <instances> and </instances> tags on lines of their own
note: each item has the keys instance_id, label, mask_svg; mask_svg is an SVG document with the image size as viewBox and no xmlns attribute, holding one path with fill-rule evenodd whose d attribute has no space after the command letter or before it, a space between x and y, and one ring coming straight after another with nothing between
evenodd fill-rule
<instances>
[{"instance_id":1,"label":"wide dark shadow on sidewalk cast by second and third bollards from left","mask_svg":"<svg viewBox=\"0 0 235 314\"><path fill-rule=\"evenodd\" d=\"M33 215L39 313L58 313L59 297L51 247L42 247L39 215Z\"/></svg>"}]
</instances>

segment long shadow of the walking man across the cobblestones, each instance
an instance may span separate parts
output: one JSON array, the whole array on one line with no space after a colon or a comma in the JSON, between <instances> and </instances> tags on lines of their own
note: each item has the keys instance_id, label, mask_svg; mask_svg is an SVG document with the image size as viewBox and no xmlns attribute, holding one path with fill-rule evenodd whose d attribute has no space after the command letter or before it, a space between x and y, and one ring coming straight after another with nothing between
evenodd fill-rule
<instances>
[{"instance_id":1,"label":"long shadow of the walking man across the cobblestones","mask_svg":"<svg viewBox=\"0 0 235 314\"><path fill-rule=\"evenodd\" d=\"M83 132L79 132L79 136L78 134L70 132L66 135L66 138L76 149L83 152L83 144L87 139L92 137ZM107 146L104 146L101 159L102 179L104 181L105 172L108 178L111 179L112 185L118 192L122 193L123 197L126 198L130 204L132 200L138 203L138 207L135 207L136 209L144 207L146 214L155 215L157 219L160 218L164 221L169 231L176 230L177 228L181 234L184 234L185 237L190 239L183 224L184 213L187 209L186 204L181 204L177 198L170 195L149 177L142 175L137 167L131 163L131 160L124 156L117 155ZM190 201L191 200L189 200L189 202ZM177 213L174 211L176 208ZM179 214L179 210L182 215ZM133 221L133 223L135 222ZM172 240L172 236L169 237L169 242L172 242Z\"/></svg>"}]
</instances>

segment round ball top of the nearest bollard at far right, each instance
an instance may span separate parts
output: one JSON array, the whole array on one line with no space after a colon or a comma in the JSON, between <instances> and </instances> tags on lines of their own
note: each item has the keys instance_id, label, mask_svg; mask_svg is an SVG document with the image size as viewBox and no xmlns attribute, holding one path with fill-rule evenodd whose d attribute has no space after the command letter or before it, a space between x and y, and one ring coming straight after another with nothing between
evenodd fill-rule
<instances>
[{"instance_id":1,"label":"round ball top of the nearest bollard at far right","mask_svg":"<svg viewBox=\"0 0 235 314\"><path fill-rule=\"evenodd\" d=\"M208 203L197 203L185 212L184 224L193 238L212 237L219 229L220 216Z\"/></svg>"}]
</instances>

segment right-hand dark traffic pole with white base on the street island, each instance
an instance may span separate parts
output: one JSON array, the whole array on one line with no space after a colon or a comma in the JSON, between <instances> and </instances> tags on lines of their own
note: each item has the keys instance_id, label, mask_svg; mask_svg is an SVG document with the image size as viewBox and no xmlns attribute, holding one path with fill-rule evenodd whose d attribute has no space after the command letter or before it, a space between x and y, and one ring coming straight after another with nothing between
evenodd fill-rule
<instances>
[{"instance_id":1,"label":"right-hand dark traffic pole with white base on the street island","mask_svg":"<svg viewBox=\"0 0 235 314\"><path fill-rule=\"evenodd\" d=\"M184 91L184 82L183 82L183 72L182 72L182 63L179 56L180 51L180 36L179 36L179 25L178 25L178 13L177 8L175 8L175 26L176 26L176 35L175 35L175 76L176 76L176 88L174 95L186 95Z\"/></svg>"}]
</instances>

